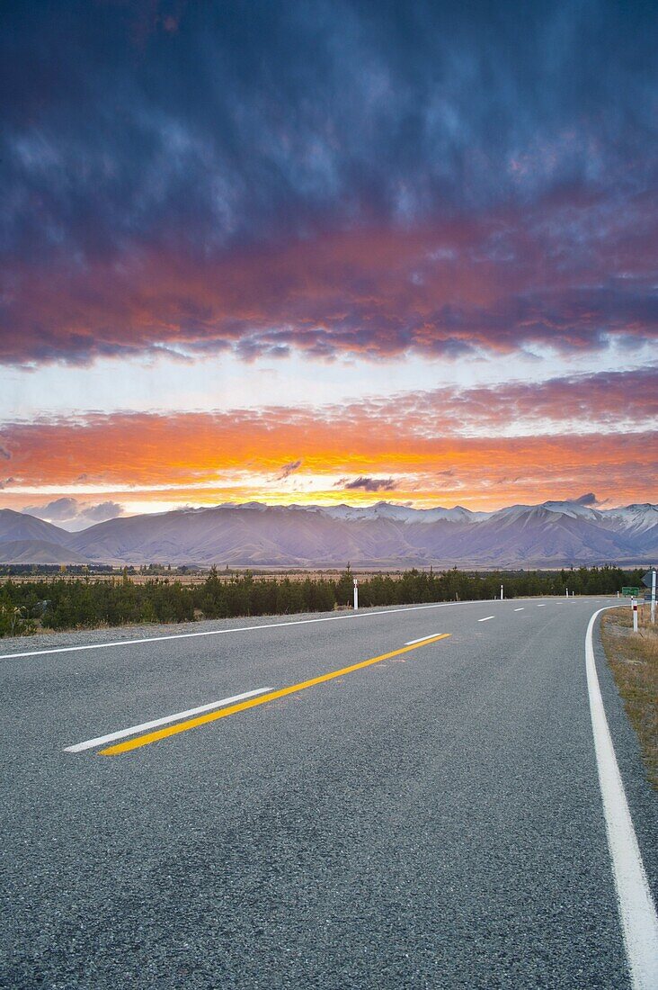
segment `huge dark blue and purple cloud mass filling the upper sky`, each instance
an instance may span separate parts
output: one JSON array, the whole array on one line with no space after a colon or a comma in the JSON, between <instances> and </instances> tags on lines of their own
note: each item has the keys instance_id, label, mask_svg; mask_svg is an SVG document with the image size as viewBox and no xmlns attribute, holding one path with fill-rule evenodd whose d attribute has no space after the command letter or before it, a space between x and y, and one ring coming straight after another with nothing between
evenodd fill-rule
<instances>
[{"instance_id":1,"label":"huge dark blue and purple cloud mass filling the upper sky","mask_svg":"<svg viewBox=\"0 0 658 990\"><path fill-rule=\"evenodd\" d=\"M656 26L642 3L5 4L0 359L654 336Z\"/></svg>"}]
</instances>

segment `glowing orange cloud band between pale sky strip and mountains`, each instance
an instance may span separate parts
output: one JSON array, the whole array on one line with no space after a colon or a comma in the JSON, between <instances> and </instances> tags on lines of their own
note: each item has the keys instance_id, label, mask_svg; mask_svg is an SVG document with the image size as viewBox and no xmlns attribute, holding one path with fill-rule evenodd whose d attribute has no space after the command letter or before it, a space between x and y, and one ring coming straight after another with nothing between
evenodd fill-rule
<instances>
[{"instance_id":1,"label":"glowing orange cloud band between pale sky strip and mountains","mask_svg":"<svg viewBox=\"0 0 658 990\"><path fill-rule=\"evenodd\" d=\"M18 505L25 504L26 487L78 495L81 469L103 498L118 503L126 490L138 489L143 498L161 498L159 489L175 493L173 501L193 502L199 486L217 492L218 501L234 500L237 490L245 500L265 490L283 501L290 491L283 483L276 488L272 464L297 461L305 494L320 490L326 478L332 496L342 488L355 499L378 484L415 501L433 493L446 500L487 495L501 504L540 502L563 491L596 491L615 504L650 501L658 464L656 437L646 425L658 414L657 370L447 387L318 407L5 424L16 492L3 493L3 504L21 498ZM394 486L400 477L404 482Z\"/></svg>"}]
</instances>

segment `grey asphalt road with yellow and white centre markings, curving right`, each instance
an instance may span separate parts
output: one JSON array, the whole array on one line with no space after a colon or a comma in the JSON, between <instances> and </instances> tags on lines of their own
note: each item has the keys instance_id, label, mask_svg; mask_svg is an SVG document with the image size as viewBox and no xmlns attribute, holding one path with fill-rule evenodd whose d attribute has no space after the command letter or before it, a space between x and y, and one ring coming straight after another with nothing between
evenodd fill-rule
<instances>
[{"instance_id":1,"label":"grey asphalt road with yellow and white centre markings, curving right","mask_svg":"<svg viewBox=\"0 0 658 990\"><path fill-rule=\"evenodd\" d=\"M606 604L0 642L0 986L631 987L585 662ZM655 802L598 667L655 897Z\"/></svg>"}]
</instances>

